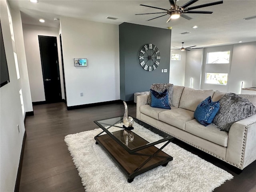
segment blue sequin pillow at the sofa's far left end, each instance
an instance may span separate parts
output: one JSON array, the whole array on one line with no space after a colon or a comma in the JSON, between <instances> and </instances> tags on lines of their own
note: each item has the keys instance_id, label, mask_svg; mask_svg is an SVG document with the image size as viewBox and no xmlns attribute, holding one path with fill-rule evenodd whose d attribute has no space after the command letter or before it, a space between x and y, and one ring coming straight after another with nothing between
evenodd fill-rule
<instances>
[{"instance_id":1,"label":"blue sequin pillow at the sofa's far left end","mask_svg":"<svg viewBox=\"0 0 256 192\"><path fill-rule=\"evenodd\" d=\"M171 109L168 99L168 90L159 93L155 90L150 89L151 94L151 106L156 108Z\"/></svg>"}]
</instances>

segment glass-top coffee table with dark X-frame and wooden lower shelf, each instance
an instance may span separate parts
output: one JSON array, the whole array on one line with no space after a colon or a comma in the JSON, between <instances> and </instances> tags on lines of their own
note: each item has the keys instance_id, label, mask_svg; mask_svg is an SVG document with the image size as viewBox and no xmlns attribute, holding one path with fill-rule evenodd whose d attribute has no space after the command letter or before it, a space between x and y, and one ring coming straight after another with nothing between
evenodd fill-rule
<instances>
[{"instance_id":1,"label":"glass-top coffee table with dark X-frame and wooden lower shelf","mask_svg":"<svg viewBox=\"0 0 256 192\"><path fill-rule=\"evenodd\" d=\"M166 166L173 159L162 149L174 137L136 118L133 120L133 130L123 128L123 116L94 121L103 130L94 137L96 144L100 144L124 171L129 183L134 177L158 166ZM166 143L162 147L155 146L163 142Z\"/></svg>"}]
</instances>

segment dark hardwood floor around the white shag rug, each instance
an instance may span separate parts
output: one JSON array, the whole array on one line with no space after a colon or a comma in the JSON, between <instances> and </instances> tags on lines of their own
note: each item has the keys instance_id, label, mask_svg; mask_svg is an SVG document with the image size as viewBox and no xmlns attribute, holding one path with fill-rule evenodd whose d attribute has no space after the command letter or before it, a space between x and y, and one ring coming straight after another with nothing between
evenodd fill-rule
<instances>
[{"instance_id":1,"label":"dark hardwood floor around the white shag rug","mask_svg":"<svg viewBox=\"0 0 256 192\"><path fill-rule=\"evenodd\" d=\"M108 104L68 111L64 103L55 103L33 108L34 116L26 118L20 192L84 192L64 137L98 128L94 120L123 115L124 105ZM128 104L128 112L136 117L136 105ZM179 140L173 142L234 176L215 192L256 192L256 161L236 174L228 164Z\"/></svg>"}]
</instances>

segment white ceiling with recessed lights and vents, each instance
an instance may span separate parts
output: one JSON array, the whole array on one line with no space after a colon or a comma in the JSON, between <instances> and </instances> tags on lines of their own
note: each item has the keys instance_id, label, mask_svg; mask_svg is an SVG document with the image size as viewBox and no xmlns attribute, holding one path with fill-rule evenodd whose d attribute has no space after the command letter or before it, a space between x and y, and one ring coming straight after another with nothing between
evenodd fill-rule
<instances>
[{"instance_id":1,"label":"white ceiling with recessed lights and vents","mask_svg":"<svg viewBox=\"0 0 256 192\"><path fill-rule=\"evenodd\" d=\"M179 0L179 6L189 0ZM199 0L190 5L196 6L218 0ZM168 0L39 0L31 3L28 0L9 0L12 8L19 9L24 24L58 27L59 21L53 18L67 16L96 22L119 25L122 22L154 26L159 28L172 27L171 45L181 47L209 47L226 44L237 44L238 41L256 41L256 19L244 18L256 16L256 0L224 0L223 4L196 10L213 11L212 14L186 14L191 20L178 18L166 23L168 16L151 21L148 19L162 14L135 15L140 13L162 12L161 10L140 6L145 4L169 9ZM106 19L107 16L117 20ZM43 18L44 23L38 20ZM194 29L192 26L198 26ZM182 35L180 33L190 32Z\"/></svg>"}]
</instances>

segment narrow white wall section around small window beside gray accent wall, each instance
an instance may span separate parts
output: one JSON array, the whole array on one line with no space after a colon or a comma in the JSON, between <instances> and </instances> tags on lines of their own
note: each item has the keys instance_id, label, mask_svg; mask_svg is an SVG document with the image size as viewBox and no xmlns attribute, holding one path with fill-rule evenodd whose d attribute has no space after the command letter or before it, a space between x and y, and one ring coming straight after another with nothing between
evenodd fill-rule
<instances>
[{"instance_id":1,"label":"narrow white wall section around small window beside gray accent wall","mask_svg":"<svg viewBox=\"0 0 256 192\"><path fill-rule=\"evenodd\" d=\"M169 82L174 85L184 86L186 69L186 51L175 51L171 54L180 54L180 61L170 60Z\"/></svg>"}]
</instances>

